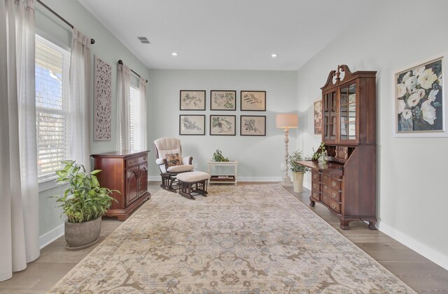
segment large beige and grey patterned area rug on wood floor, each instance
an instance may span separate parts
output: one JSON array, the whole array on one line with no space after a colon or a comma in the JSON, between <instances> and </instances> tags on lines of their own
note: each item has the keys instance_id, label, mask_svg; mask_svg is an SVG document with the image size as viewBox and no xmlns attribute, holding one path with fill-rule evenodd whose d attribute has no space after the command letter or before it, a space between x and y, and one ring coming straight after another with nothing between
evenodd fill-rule
<instances>
[{"instance_id":1,"label":"large beige and grey patterned area rug on wood floor","mask_svg":"<svg viewBox=\"0 0 448 294\"><path fill-rule=\"evenodd\" d=\"M279 184L160 190L50 293L415 293Z\"/></svg>"}]
</instances>

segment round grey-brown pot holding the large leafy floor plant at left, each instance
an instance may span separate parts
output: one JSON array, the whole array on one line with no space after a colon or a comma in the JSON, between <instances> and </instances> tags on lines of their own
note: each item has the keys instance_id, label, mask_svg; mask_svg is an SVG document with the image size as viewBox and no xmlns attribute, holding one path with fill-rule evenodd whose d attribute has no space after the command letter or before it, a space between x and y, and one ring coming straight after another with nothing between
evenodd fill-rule
<instances>
[{"instance_id":1,"label":"round grey-brown pot holding the large leafy floor plant at left","mask_svg":"<svg viewBox=\"0 0 448 294\"><path fill-rule=\"evenodd\" d=\"M101 233L101 220L101 216L84 223L69 223L66 220L65 242L67 242L67 246L65 248L78 250L95 244L99 240L99 233Z\"/></svg>"}]
</instances>

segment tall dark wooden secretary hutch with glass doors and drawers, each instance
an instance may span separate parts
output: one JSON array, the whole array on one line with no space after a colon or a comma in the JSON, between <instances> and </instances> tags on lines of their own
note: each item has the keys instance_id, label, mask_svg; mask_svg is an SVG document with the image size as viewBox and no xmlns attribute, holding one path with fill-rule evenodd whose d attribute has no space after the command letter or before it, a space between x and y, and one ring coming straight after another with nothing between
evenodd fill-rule
<instances>
[{"instance_id":1,"label":"tall dark wooden secretary hutch with glass doors and drawers","mask_svg":"<svg viewBox=\"0 0 448 294\"><path fill-rule=\"evenodd\" d=\"M328 163L300 161L311 168L310 206L335 212L340 228L351 221L377 223L376 71L331 71L322 90L322 142Z\"/></svg>"}]
</instances>

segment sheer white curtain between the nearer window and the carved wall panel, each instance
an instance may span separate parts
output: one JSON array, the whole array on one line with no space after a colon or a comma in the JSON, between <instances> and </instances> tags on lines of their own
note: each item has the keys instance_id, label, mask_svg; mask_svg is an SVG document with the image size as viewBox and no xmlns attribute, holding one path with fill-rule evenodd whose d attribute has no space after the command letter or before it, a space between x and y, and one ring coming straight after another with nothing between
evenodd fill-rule
<instances>
[{"instance_id":1,"label":"sheer white curtain between the nearer window and the carved wall panel","mask_svg":"<svg viewBox=\"0 0 448 294\"><path fill-rule=\"evenodd\" d=\"M73 28L70 59L71 159L90 170L90 38Z\"/></svg>"}]
</instances>

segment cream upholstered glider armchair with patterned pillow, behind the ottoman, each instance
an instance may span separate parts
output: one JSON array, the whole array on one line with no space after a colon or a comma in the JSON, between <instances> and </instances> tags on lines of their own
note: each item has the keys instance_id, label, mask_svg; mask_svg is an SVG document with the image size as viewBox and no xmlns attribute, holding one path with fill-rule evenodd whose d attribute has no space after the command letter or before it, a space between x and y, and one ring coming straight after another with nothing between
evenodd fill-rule
<instances>
[{"instance_id":1,"label":"cream upholstered glider armchair with patterned pillow, behind the ottoman","mask_svg":"<svg viewBox=\"0 0 448 294\"><path fill-rule=\"evenodd\" d=\"M177 186L176 175L181 172L193 170L193 157L182 156L181 140L171 137L164 137L154 141L155 163L160 168L162 177L162 189L176 193L174 186ZM174 185L174 186L173 186Z\"/></svg>"}]
</instances>

